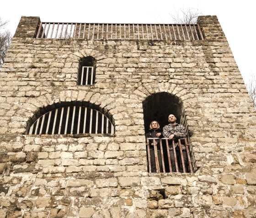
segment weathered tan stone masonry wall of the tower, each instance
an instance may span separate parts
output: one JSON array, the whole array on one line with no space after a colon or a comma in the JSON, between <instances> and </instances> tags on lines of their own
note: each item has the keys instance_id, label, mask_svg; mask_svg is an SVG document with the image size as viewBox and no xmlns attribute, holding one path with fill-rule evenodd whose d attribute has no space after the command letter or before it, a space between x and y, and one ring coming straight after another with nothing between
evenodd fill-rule
<instances>
[{"instance_id":1,"label":"weathered tan stone masonry wall of the tower","mask_svg":"<svg viewBox=\"0 0 256 218\"><path fill-rule=\"evenodd\" d=\"M256 113L216 16L203 41L35 39L39 23L21 17L0 71L0 218L256 217ZM78 86L86 56L96 83ZM182 101L193 173L147 172L142 102L161 92ZM26 134L67 101L115 135Z\"/></svg>"}]
</instances>

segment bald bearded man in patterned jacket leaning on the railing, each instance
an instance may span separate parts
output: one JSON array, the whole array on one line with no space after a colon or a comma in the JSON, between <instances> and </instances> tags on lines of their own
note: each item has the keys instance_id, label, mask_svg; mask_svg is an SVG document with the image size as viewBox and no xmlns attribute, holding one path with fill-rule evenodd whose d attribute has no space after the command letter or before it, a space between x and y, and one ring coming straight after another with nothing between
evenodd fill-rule
<instances>
[{"instance_id":1,"label":"bald bearded man in patterned jacket leaning on the railing","mask_svg":"<svg viewBox=\"0 0 256 218\"><path fill-rule=\"evenodd\" d=\"M179 172L183 172L183 167L182 167L182 162L181 162L181 154L178 146L178 139L179 138L186 138L187 137L187 131L185 127L181 124L176 123L177 118L173 115L170 114L168 117L168 121L170 124L166 125L163 128L163 135L165 138L169 138L169 140L173 139L175 142L175 147L176 147L176 156L177 156L177 161L178 161L178 166L179 166ZM183 160L187 172L187 152L186 152L186 147L185 145L182 146L182 154L183 154ZM173 153L173 147L172 147L172 142L169 143L169 150L170 150L170 157L171 157L171 170L172 172L177 172L176 166L175 166L175 159L174 159L174 153Z\"/></svg>"}]
</instances>

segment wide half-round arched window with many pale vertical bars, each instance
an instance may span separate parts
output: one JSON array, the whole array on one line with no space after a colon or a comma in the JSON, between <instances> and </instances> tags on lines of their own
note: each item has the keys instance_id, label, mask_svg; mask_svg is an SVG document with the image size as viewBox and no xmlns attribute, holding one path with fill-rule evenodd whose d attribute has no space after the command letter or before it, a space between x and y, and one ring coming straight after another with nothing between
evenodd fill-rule
<instances>
[{"instance_id":1,"label":"wide half-round arched window with many pale vertical bars","mask_svg":"<svg viewBox=\"0 0 256 218\"><path fill-rule=\"evenodd\" d=\"M27 134L113 134L112 118L86 102L63 102L37 113Z\"/></svg>"}]
</instances>

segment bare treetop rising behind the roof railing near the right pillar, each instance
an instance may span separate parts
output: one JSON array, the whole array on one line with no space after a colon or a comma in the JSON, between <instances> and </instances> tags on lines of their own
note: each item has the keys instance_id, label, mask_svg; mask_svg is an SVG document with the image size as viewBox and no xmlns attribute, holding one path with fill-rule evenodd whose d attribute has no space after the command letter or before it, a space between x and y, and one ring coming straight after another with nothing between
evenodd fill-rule
<instances>
[{"instance_id":1,"label":"bare treetop rising behind the roof railing near the right pillar","mask_svg":"<svg viewBox=\"0 0 256 218\"><path fill-rule=\"evenodd\" d=\"M171 19L176 24L196 24L197 17L203 15L198 9L188 8L188 9L179 9L170 14Z\"/></svg>"}]
</instances>

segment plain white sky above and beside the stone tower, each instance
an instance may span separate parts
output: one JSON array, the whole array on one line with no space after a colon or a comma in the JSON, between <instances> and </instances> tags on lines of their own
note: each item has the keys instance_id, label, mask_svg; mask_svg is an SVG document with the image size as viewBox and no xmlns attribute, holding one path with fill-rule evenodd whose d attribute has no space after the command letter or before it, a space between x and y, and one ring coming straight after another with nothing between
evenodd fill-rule
<instances>
[{"instance_id":1,"label":"plain white sky above and beside the stone tower","mask_svg":"<svg viewBox=\"0 0 256 218\"><path fill-rule=\"evenodd\" d=\"M170 14L198 8L217 15L245 83L256 74L255 6L253 0L4 0L0 17L15 33L21 15L40 16L43 22L172 23Z\"/></svg>"}]
</instances>

